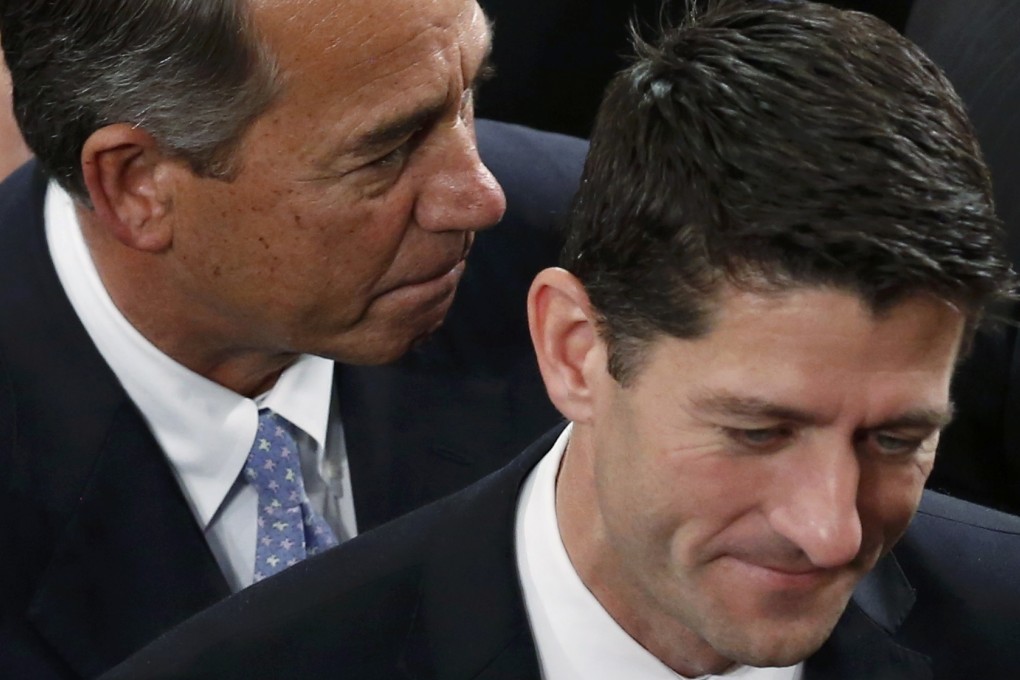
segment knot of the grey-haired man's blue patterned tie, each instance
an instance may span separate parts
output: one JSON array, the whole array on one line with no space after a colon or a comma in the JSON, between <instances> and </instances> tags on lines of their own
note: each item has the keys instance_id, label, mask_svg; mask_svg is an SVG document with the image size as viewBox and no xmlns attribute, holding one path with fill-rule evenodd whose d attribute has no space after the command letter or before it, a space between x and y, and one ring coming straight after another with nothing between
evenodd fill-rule
<instances>
[{"instance_id":1,"label":"knot of the grey-haired man's blue patterned tie","mask_svg":"<svg viewBox=\"0 0 1020 680\"><path fill-rule=\"evenodd\" d=\"M268 409L259 412L258 431L245 463L245 479L258 491L259 503L279 509L299 506L305 488L294 425Z\"/></svg>"}]
</instances>

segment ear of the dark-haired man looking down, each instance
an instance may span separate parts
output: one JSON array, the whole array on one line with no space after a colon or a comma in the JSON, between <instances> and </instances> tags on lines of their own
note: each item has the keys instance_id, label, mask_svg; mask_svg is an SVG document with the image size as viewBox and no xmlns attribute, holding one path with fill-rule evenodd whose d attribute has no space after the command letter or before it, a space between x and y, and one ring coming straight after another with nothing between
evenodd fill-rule
<instances>
[{"instance_id":1,"label":"ear of the dark-haired man looking down","mask_svg":"<svg viewBox=\"0 0 1020 680\"><path fill-rule=\"evenodd\" d=\"M564 269L539 272L527 296L527 321L549 399L568 419L589 422L595 387L607 374L605 347L584 286Z\"/></svg>"}]
</instances>

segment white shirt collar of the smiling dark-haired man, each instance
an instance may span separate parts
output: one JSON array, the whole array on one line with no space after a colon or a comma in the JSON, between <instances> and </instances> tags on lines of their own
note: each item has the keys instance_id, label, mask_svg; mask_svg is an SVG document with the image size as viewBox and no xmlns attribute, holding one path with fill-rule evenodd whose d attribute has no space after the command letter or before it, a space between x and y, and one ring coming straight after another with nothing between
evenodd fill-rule
<instances>
[{"instance_id":1,"label":"white shirt collar of the smiling dark-haired man","mask_svg":"<svg viewBox=\"0 0 1020 680\"><path fill-rule=\"evenodd\" d=\"M560 538L556 475L572 426L531 470L517 501L517 573L545 680L676 680L683 676L628 635L584 586ZM733 680L800 680L803 664L740 666Z\"/></svg>"}]
</instances>

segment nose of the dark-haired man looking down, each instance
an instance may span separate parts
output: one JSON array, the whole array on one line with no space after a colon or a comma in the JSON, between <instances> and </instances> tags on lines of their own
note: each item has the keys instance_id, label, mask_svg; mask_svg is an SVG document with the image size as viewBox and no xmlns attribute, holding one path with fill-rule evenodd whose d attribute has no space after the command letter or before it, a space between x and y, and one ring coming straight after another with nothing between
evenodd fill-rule
<instances>
[{"instance_id":1,"label":"nose of the dark-haired man looking down","mask_svg":"<svg viewBox=\"0 0 1020 680\"><path fill-rule=\"evenodd\" d=\"M842 567L861 550L857 454L853 446L799 453L787 483L775 489L769 522L815 567Z\"/></svg>"}]
</instances>

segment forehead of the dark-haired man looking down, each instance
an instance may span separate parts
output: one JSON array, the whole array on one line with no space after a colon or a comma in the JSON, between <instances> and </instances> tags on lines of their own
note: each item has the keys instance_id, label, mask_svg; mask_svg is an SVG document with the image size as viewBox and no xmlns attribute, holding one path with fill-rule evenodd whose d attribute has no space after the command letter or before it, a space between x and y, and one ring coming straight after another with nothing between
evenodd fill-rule
<instances>
[{"instance_id":1,"label":"forehead of the dark-haired man looking down","mask_svg":"<svg viewBox=\"0 0 1020 680\"><path fill-rule=\"evenodd\" d=\"M848 404L875 422L938 427L951 416L963 317L949 304L919 295L876 313L820 286L729 289L714 303L707 333L653 341L635 384L651 378L705 413L747 418L823 421Z\"/></svg>"}]
</instances>

